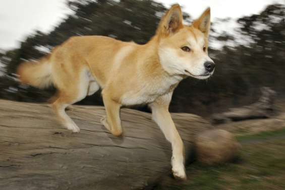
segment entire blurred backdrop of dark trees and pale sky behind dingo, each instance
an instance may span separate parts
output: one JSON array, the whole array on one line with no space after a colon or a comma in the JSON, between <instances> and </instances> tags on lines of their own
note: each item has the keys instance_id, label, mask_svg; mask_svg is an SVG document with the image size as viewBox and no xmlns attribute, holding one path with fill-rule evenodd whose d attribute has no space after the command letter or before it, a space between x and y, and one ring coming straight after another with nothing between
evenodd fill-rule
<instances>
[{"instance_id":1,"label":"entire blurred backdrop of dark trees and pale sky behind dingo","mask_svg":"<svg viewBox=\"0 0 285 190\"><path fill-rule=\"evenodd\" d=\"M190 24L211 7L210 57L216 70L207 81L188 78L175 90L172 112L202 116L255 102L261 87L285 95L285 1L29 0L0 2L0 98L45 102L54 89L21 85L20 62L38 59L70 36L104 35L146 43L170 5L183 7ZM102 105L100 92L78 104ZM146 108L140 108L146 110Z\"/></svg>"}]
</instances>

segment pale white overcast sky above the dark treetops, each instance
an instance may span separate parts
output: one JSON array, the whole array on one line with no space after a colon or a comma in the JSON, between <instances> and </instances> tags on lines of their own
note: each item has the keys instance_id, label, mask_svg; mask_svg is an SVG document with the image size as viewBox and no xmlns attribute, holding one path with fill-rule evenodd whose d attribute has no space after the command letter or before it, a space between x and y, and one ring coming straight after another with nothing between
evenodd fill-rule
<instances>
[{"instance_id":1,"label":"pale white overcast sky above the dark treetops","mask_svg":"<svg viewBox=\"0 0 285 190\"><path fill-rule=\"evenodd\" d=\"M71 13L65 2L66 0L1 0L0 49L19 47L20 41L34 30L51 31ZM216 18L237 19L257 14L272 3L285 4L285 0L160 0L158 2L165 4L166 7L179 3L183 6L183 11L193 18L210 7L213 21Z\"/></svg>"}]
</instances>

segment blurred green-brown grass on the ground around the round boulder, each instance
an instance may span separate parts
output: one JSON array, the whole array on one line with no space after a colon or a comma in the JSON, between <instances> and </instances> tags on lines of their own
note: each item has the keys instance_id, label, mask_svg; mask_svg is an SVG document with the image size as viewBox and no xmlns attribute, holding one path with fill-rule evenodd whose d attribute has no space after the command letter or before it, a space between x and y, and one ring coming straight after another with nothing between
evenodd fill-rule
<instances>
[{"instance_id":1,"label":"blurred green-brown grass on the ground around the round boulder","mask_svg":"<svg viewBox=\"0 0 285 190\"><path fill-rule=\"evenodd\" d=\"M183 184L155 190L274 190L285 189L285 129L237 138L243 145L236 163L193 163Z\"/></svg>"}]
</instances>

